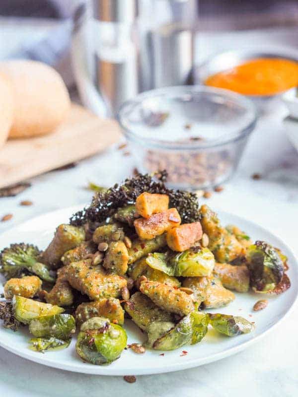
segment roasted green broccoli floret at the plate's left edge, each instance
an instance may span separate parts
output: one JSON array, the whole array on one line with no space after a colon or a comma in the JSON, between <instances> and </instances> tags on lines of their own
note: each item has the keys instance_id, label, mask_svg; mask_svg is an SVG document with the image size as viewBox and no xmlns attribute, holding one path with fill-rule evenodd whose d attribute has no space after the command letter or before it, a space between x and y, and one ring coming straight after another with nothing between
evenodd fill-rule
<instances>
[{"instance_id":1,"label":"roasted green broccoli floret at the plate's left edge","mask_svg":"<svg viewBox=\"0 0 298 397\"><path fill-rule=\"evenodd\" d=\"M42 280L54 282L55 277L48 267L38 262L40 255L41 251L32 244L11 244L0 253L0 272L6 279L36 274Z\"/></svg>"}]
</instances>

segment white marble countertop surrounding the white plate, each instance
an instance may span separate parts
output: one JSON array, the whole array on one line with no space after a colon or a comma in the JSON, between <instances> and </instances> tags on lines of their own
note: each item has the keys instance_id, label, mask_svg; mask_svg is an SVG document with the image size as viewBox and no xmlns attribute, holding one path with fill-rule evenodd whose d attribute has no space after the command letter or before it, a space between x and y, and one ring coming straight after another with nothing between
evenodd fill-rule
<instances>
[{"instance_id":1,"label":"white marble countertop surrounding the white plate","mask_svg":"<svg viewBox=\"0 0 298 397\"><path fill-rule=\"evenodd\" d=\"M253 132L237 174L210 206L249 218L281 237L297 254L298 153L285 135L280 109L264 116ZM75 168L44 174L15 198L0 199L0 233L47 211L87 202L88 180L110 186L132 172L134 161L111 149ZM260 173L261 180L252 180ZM21 200L33 201L20 206ZM203 201L203 200L202 200ZM17 238L16 238L17 240ZM294 397L298 395L298 306L273 333L248 350L221 361L175 373L139 376L135 384L122 377L102 377L55 370L19 358L0 348L0 391L4 396L165 396Z\"/></svg>"}]
</instances>

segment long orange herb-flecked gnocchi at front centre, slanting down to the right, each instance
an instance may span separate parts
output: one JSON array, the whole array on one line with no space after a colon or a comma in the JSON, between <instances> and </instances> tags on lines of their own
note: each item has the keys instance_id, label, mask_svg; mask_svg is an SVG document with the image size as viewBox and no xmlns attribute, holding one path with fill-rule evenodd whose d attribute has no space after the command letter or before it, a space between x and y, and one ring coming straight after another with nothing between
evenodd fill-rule
<instances>
[{"instance_id":1,"label":"long orange herb-flecked gnocchi at front centre, slanting down to the right","mask_svg":"<svg viewBox=\"0 0 298 397\"><path fill-rule=\"evenodd\" d=\"M140 284L140 291L161 309L179 316L187 315L195 309L192 296L171 285L144 280Z\"/></svg>"}]
</instances>

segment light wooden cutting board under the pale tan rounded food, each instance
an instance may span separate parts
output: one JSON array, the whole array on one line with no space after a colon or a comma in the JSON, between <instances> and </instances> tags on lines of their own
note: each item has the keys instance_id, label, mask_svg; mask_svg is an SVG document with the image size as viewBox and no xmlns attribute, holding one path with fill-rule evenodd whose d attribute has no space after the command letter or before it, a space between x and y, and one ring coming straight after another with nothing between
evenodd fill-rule
<instances>
[{"instance_id":1,"label":"light wooden cutting board under the pale tan rounded food","mask_svg":"<svg viewBox=\"0 0 298 397\"><path fill-rule=\"evenodd\" d=\"M116 121L100 119L73 104L68 119L54 133L5 143L0 149L0 188L92 156L120 136Z\"/></svg>"}]
</instances>

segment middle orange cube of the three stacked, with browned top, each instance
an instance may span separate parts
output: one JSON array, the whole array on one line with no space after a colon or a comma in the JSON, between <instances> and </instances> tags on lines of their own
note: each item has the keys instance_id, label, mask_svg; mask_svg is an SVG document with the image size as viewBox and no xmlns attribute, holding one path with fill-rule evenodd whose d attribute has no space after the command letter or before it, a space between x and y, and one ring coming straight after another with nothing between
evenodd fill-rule
<instances>
[{"instance_id":1,"label":"middle orange cube of the three stacked, with browned top","mask_svg":"<svg viewBox=\"0 0 298 397\"><path fill-rule=\"evenodd\" d=\"M181 218L177 209L170 208L165 212L153 214L148 219L138 218L134 221L134 226L141 239L151 240L172 227L179 226L180 223Z\"/></svg>"}]
</instances>

